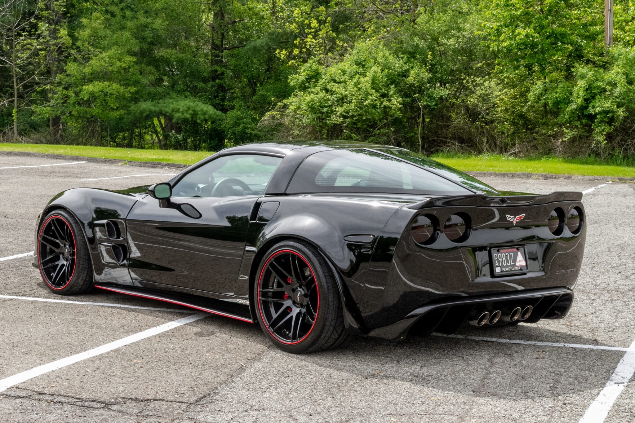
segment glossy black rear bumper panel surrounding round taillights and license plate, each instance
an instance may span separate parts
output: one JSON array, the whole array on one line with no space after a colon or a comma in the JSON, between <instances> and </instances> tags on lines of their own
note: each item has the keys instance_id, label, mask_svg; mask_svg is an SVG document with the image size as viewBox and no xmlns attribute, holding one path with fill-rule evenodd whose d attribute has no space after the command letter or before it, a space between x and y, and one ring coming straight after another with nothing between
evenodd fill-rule
<instances>
[{"instance_id":1,"label":"glossy black rear bumper panel surrounding round taillights and license plate","mask_svg":"<svg viewBox=\"0 0 635 423\"><path fill-rule=\"evenodd\" d=\"M556 287L572 290L584 257L584 218L577 233L565 226L556 236L547 226L547 217L555 208L570 211L573 207L584 208L575 201L523 207L432 207L425 214L433 215L439 225L457 213L471 216L472 221L470 235L463 242L452 242L438 232L431 238L432 244L415 242L411 224L418 212L401 207L378 237L365 272L358 300L364 333L381 334L382 328L402 325L411 311L429 304L531 296ZM582 213L584 216L584 210ZM525 218L514 225L506 214ZM495 275L491 249L498 247L524 247L526 273Z\"/></svg>"}]
</instances>

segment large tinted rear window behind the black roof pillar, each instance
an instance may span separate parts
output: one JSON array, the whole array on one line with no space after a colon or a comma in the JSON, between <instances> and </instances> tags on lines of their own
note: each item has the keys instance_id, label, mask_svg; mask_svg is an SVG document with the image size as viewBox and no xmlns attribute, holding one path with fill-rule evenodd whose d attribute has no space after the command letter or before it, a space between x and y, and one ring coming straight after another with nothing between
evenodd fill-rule
<instances>
[{"instance_id":1,"label":"large tinted rear window behind the black roof pillar","mask_svg":"<svg viewBox=\"0 0 635 423\"><path fill-rule=\"evenodd\" d=\"M328 150L310 155L298 167L286 192L470 193L467 188L421 167L364 149Z\"/></svg>"}]
</instances>

